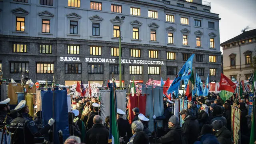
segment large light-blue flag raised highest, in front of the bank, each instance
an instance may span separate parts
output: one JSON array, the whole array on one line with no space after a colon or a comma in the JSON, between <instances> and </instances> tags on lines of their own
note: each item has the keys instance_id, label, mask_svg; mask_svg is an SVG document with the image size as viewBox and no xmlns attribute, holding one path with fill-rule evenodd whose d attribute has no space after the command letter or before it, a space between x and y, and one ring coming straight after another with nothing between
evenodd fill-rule
<instances>
[{"instance_id":1,"label":"large light-blue flag raised highest, in front of the bank","mask_svg":"<svg viewBox=\"0 0 256 144\"><path fill-rule=\"evenodd\" d=\"M192 54L190 58L188 58L186 63L182 66L177 76L174 78L170 88L167 90L167 94L170 94L174 90L177 90L181 80L184 80L185 86L188 84L188 79L190 79L191 77L192 63L193 63L194 56L195 54Z\"/></svg>"}]
</instances>

